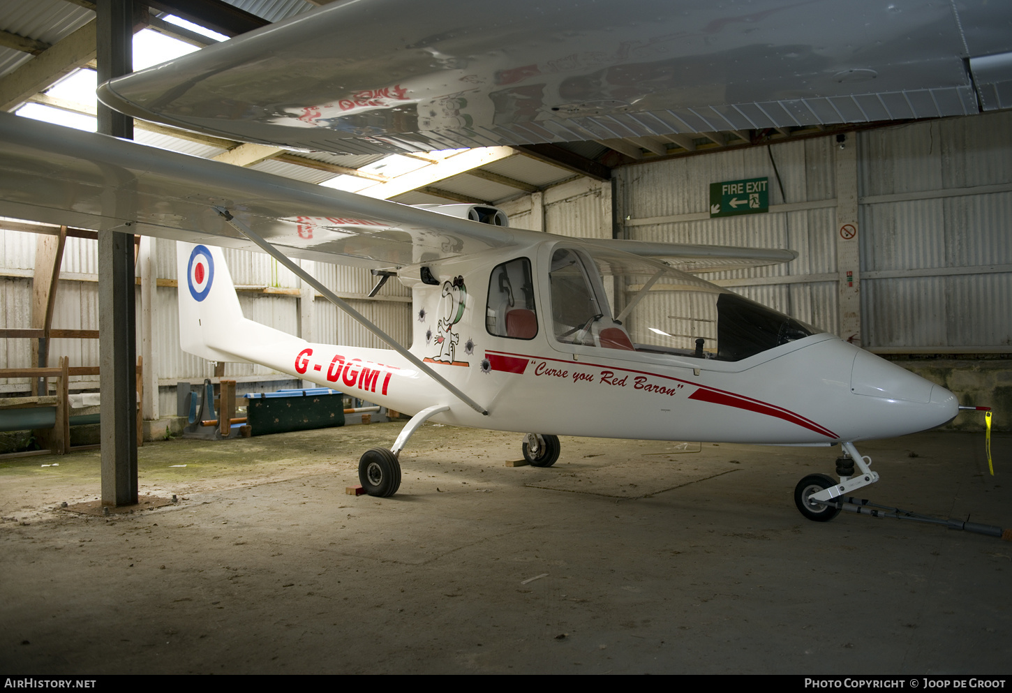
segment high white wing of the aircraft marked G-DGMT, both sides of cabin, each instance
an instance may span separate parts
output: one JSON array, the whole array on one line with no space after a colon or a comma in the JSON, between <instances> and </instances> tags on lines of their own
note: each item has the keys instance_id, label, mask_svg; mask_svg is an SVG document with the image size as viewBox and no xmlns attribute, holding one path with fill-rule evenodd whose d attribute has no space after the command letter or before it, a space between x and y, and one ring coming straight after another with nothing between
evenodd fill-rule
<instances>
[{"instance_id":1,"label":"high white wing of the aircraft marked G-DGMT, both sides of cabin","mask_svg":"<svg viewBox=\"0 0 1012 693\"><path fill-rule=\"evenodd\" d=\"M0 113L0 216L256 249L220 209L288 256L376 269L551 238ZM696 272L795 257L776 249L596 243Z\"/></svg>"}]
</instances>

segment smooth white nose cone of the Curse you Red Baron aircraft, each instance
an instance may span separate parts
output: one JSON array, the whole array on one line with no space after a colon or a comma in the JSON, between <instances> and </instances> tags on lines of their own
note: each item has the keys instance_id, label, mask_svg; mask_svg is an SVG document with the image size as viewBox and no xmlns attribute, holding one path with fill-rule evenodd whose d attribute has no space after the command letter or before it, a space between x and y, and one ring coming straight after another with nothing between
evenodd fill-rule
<instances>
[{"instance_id":1,"label":"smooth white nose cone of the Curse you Red Baron aircraft","mask_svg":"<svg viewBox=\"0 0 1012 693\"><path fill-rule=\"evenodd\" d=\"M941 426L959 413L955 395L946 388L863 350L854 357L850 392L868 398L869 412L888 406L880 415L904 433Z\"/></svg>"}]
</instances>

